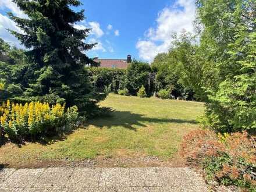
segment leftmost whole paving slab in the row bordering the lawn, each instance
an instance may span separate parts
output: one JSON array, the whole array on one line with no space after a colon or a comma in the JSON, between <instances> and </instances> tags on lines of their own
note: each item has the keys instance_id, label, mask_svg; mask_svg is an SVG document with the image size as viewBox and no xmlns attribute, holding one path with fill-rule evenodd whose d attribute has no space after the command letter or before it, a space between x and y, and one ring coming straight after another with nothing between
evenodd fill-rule
<instances>
[{"instance_id":1,"label":"leftmost whole paving slab in the row bordering the lawn","mask_svg":"<svg viewBox=\"0 0 256 192\"><path fill-rule=\"evenodd\" d=\"M42 174L44 169L18 169L3 183L3 187L30 187Z\"/></svg>"}]
</instances>

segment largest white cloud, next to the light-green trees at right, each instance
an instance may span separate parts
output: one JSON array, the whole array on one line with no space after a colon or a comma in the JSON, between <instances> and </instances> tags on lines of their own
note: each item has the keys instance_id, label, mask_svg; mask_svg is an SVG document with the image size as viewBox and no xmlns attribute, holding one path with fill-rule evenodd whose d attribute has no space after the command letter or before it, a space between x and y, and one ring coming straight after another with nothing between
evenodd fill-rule
<instances>
[{"instance_id":1,"label":"largest white cloud, next to the light-green trees at right","mask_svg":"<svg viewBox=\"0 0 256 192\"><path fill-rule=\"evenodd\" d=\"M157 27L150 27L144 34L145 40L138 40L136 44L140 58L152 62L158 53L167 52L172 33L193 32L194 18L194 0L177 0L173 6L161 10Z\"/></svg>"}]
</instances>

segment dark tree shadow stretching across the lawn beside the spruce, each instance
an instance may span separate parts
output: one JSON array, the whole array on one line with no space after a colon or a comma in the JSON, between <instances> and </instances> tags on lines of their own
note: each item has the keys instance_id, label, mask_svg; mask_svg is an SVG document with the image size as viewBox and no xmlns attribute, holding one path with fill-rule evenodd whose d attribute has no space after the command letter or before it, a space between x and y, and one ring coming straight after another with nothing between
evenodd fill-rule
<instances>
[{"instance_id":1,"label":"dark tree shadow stretching across the lawn beside the spruce","mask_svg":"<svg viewBox=\"0 0 256 192\"><path fill-rule=\"evenodd\" d=\"M186 119L158 119L148 118L145 115L132 113L130 111L113 111L109 118L97 118L88 122L88 125L93 125L99 128L112 126L122 126L126 129L136 131L135 126L147 127L147 123L190 123L197 124L195 120Z\"/></svg>"}]
</instances>

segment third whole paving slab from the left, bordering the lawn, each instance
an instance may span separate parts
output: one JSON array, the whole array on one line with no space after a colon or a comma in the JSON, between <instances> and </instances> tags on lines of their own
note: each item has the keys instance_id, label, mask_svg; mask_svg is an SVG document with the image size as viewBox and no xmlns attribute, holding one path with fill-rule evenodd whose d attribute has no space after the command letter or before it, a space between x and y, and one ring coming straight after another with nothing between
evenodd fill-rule
<instances>
[{"instance_id":1,"label":"third whole paving slab from the left, bordering the lawn","mask_svg":"<svg viewBox=\"0 0 256 192\"><path fill-rule=\"evenodd\" d=\"M75 168L66 187L98 187L101 168Z\"/></svg>"}]
</instances>

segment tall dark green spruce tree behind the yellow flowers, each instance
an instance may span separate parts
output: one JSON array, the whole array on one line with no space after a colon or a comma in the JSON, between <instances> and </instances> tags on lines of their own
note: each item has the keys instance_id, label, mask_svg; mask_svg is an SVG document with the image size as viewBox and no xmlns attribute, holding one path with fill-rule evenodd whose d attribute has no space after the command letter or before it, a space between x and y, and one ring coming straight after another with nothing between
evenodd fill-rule
<instances>
[{"instance_id":1,"label":"tall dark green spruce tree behind the yellow flowers","mask_svg":"<svg viewBox=\"0 0 256 192\"><path fill-rule=\"evenodd\" d=\"M95 66L84 52L95 44L87 44L90 29L76 29L74 24L85 19L84 10L74 12L79 0L13 0L29 17L23 19L9 13L24 33L9 30L29 51L33 62L33 78L24 98L77 105L80 112L91 115L105 95L91 86L85 65Z\"/></svg>"}]
</instances>

